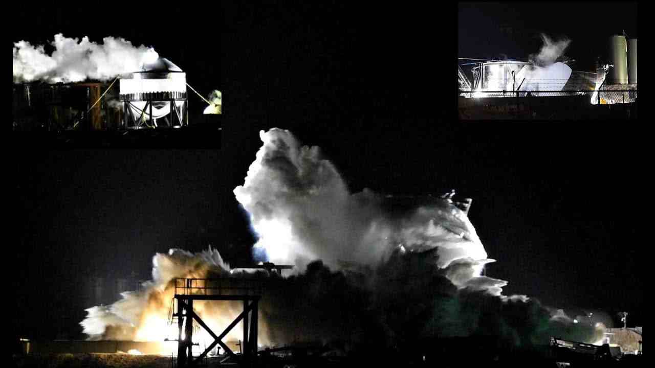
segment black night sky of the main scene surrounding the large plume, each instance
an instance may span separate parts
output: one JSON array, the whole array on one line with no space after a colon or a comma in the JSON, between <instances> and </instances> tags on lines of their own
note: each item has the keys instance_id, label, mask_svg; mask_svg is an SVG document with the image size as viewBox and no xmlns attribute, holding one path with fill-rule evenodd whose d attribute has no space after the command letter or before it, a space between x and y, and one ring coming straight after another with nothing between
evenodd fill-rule
<instances>
[{"instance_id":1,"label":"black night sky of the main scene surrounding the large plume","mask_svg":"<svg viewBox=\"0 0 655 368\"><path fill-rule=\"evenodd\" d=\"M18 27L12 41L45 42L62 30L155 46L191 85L223 91L223 132L212 149L14 147L18 333L52 337L39 328L42 321L53 331L75 331L84 316L75 282L133 270L148 276L155 251L212 244L233 263L248 261L253 238L232 191L259 149L259 130L272 127L322 147L352 191L454 188L474 198L470 218L498 260L489 275L510 282L506 294L628 310L643 325L635 270L643 244L632 217L639 205L628 198L638 196L639 155L629 130L457 122L455 95L441 92L454 75L447 65L455 42L459 54L485 55L462 42L471 35L461 7L455 37L456 4L441 9L453 24L440 25L422 9L223 4L180 10L186 20L165 34L164 10L157 21L129 26L103 24L104 16L84 9L36 11L34 20L50 22ZM626 31L636 35L636 22ZM573 38L581 30L561 32Z\"/></svg>"}]
</instances>

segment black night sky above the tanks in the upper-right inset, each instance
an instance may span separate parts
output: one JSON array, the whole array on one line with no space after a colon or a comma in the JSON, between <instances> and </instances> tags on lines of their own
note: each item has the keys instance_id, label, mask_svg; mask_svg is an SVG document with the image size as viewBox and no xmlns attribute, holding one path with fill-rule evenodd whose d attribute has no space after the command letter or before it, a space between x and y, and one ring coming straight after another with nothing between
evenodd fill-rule
<instances>
[{"instance_id":1,"label":"black night sky above the tanks in the upper-right inset","mask_svg":"<svg viewBox=\"0 0 655 368\"><path fill-rule=\"evenodd\" d=\"M503 33L501 25L512 28ZM568 37L573 69L595 71L607 37L637 35L637 3L622 2L462 2L458 3L458 57L525 59L539 51L540 33Z\"/></svg>"}]
</instances>

